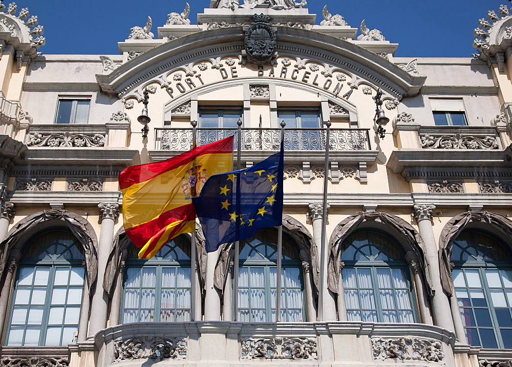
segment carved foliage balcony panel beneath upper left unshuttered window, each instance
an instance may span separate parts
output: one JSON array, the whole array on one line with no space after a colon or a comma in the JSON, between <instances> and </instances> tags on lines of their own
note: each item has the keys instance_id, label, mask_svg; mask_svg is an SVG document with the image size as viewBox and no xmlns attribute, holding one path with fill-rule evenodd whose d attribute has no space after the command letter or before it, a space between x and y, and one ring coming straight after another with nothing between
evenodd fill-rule
<instances>
[{"instance_id":1,"label":"carved foliage balcony panel beneath upper left unshuttered window","mask_svg":"<svg viewBox=\"0 0 512 367\"><path fill-rule=\"evenodd\" d=\"M102 134L40 134L30 133L27 138L27 146L50 147L92 147L104 146L105 136Z\"/></svg>"}]
</instances>

